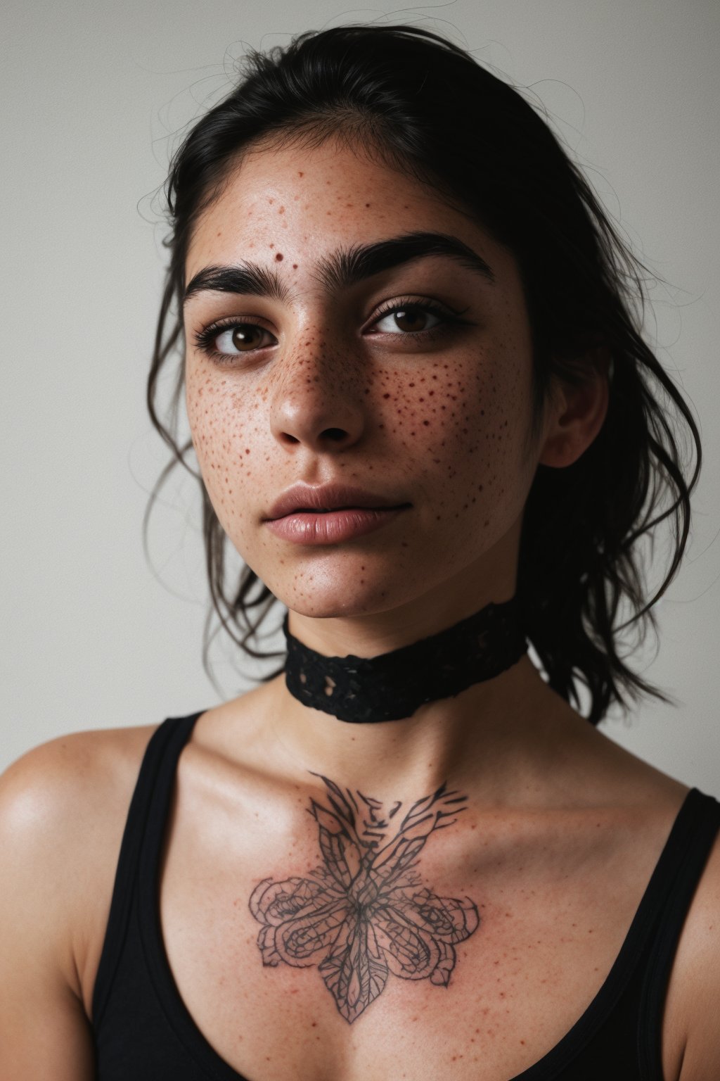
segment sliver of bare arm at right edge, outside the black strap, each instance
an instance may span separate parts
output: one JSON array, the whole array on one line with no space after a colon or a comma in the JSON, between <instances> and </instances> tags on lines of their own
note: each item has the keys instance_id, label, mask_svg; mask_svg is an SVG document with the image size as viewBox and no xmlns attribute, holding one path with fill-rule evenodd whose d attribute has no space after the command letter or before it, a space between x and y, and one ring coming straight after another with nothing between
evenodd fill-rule
<instances>
[{"instance_id":1,"label":"sliver of bare arm at right edge, outside the black strap","mask_svg":"<svg viewBox=\"0 0 720 1081\"><path fill-rule=\"evenodd\" d=\"M680 1081L720 1077L720 836L688 912L673 966L666 1016L683 1033Z\"/></svg>"}]
</instances>

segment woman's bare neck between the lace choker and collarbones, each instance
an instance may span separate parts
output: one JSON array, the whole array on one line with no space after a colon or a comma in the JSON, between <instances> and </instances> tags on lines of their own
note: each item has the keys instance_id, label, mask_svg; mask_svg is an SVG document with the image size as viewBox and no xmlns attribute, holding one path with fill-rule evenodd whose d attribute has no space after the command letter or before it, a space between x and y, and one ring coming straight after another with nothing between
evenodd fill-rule
<instances>
[{"instance_id":1,"label":"woman's bare neck between the lace choker and collarbones","mask_svg":"<svg viewBox=\"0 0 720 1081\"><path fill-rule=\"evenodd\" d=\"M269 685L268 718L287 772L308 771L377 798L418 798L449 780L502 802L511 788L536 780L547 766L548 719L569 710L526 655L494 679L452 698L421 706L405 720L348 724L309 708L287 691L284 675Z\"/></svg>"}]
</instances>

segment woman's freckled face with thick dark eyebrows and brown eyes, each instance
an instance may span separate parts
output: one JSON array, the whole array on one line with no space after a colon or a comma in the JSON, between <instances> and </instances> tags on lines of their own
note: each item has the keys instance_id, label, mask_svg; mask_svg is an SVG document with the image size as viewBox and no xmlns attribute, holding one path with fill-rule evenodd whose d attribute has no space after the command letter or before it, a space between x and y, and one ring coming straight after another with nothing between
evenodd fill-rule
<instances>
[{"instance_id":1,"label":"woman's freckled face with thick dark eyebrows and brown eyes","mask_svg":"<svg viewBox=\"0 0 720 1081\"><path fill-rule=\"evenodd\" d=\"M186 280L202 476L283 603L352 616L435 593L460 618L514 592L541 440L528 446L530 328L505 249L326 143L247 156L196 224ZM297 483L403 509L273 525Z\"/></svg>"}]
</instances>

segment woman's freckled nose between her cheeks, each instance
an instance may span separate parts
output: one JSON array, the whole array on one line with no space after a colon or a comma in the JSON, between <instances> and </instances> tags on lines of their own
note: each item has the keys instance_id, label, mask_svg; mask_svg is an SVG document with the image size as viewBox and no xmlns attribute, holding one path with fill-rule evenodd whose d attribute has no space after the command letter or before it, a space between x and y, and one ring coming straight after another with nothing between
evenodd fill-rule
<instances>
[{"instance_id":1,"label":"woman's freckled nose between her cheeks","mask_svg":"<svg viewBox=\"0 0 720 1081\"><path fill-rule=\"evenodd\" d=\"M365 404L356 368L310 344L287 356L272 393L270 424L287 450L340 451L361 439Z\"/></svg>"}]
</instances>

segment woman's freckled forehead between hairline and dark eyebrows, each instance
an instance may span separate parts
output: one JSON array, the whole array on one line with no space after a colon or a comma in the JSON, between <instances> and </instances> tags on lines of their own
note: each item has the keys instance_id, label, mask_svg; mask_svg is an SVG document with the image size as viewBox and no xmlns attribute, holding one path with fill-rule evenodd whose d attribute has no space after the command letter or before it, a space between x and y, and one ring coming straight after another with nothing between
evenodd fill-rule
<instances>
[{"instance_id":1,"label":"woman's freckled forehead between hairline and dark eyebrows","mask_svg":"<svg viewBox=\"0 0 720 1081\"><path fill-rule=\"evenodd\" d=\"M331 142L259 148L230 171L196 222L186 280L209 264L247 258L309 271L338 248L417 231L453 235L499 258L479 224L397 170Z\"/></svg>"}]
</instances>

